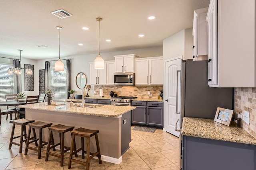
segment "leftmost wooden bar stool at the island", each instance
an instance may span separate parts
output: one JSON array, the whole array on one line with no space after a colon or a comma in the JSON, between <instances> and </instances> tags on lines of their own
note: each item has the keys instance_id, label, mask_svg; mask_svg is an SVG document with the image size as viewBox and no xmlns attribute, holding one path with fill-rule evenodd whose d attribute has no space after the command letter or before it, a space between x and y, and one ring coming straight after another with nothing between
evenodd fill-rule
<instances>
[{"instance_id":1,"label":"leftmost wooden bar stool at the island","mask_svg":"<svg viewBox=\"0 0 256 170\"><path fill-rule=\"evenodd\" d=\"M12 125L12 133L11 133L11 138L10 138L9 149L12 149L12 144L18 145L18 146L20 146L20 153L21 153L23 142L26 142L26 140L27 140L26 125L28 123L34 122L34 120L17 119L17 120L13 120L12 122L13 122L13 125ZM20 136L13 137L14 131L15 131L15 125L21 125L21 130L20 130ZM32 137L30 139L36 139L35 129L33 129L33 134L34 134L34 137ZM20 137L20 143L13 142L13 139L16 139L19 137ZM25 137L24 140L23 140L23 137ZM37 142L36 142L36 146L38 146Z\"/></svg>"}]
</instances>

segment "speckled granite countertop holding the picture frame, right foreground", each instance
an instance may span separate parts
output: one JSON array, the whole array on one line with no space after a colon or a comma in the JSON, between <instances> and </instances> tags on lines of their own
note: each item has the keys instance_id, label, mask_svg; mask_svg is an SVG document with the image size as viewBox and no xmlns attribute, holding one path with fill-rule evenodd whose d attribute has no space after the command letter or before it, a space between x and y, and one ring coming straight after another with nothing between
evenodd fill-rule
<instances>
[{"instance_id":1,"label":"speckled granite countertop holding the picture frame, right foreground","mask_svg":"<svg viewBox=\"0 0 256 170\"><path fill-rule=\"evenodd\" d=\"M256 138L241 127L226 126L213 119L184 117L181 135L256 145Z\"/></svg>"}]
</instances>

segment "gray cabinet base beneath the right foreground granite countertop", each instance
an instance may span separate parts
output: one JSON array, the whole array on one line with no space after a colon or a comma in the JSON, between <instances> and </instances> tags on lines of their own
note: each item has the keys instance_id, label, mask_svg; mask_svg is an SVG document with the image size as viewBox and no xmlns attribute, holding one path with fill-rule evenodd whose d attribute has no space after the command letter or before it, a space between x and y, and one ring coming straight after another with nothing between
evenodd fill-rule
<instances>
[{"instance_id":1,"label":"gray cabinet base beneath the right foreground granite countertop","mask_svg":"<svg viewBox=\"0 0 256 170\"><path fill-rule=\"evenodd\" d=\"M256 170L256 145L182 136L182 170Z\"/></svg>"}]
</instances>

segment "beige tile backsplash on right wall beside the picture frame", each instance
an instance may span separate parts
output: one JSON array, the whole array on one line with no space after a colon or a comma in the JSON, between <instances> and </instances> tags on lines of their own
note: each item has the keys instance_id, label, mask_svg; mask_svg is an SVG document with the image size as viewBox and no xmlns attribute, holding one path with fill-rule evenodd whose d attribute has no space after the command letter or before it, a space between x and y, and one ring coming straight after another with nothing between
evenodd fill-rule
<instances>
[{"instance_id":1,"label":"beige tile backsplash on right wall beside the picture frame","mask_svg":"<svg viewBox=\"0 0 256 170\"><path fill-rule=\"evenodd\" d=\"M234 111L244 113L244 110L250 113L250 124L248 125L242 119L238 124L256 137L256 88L235 88Z\"/></svg>"}]
</instances>

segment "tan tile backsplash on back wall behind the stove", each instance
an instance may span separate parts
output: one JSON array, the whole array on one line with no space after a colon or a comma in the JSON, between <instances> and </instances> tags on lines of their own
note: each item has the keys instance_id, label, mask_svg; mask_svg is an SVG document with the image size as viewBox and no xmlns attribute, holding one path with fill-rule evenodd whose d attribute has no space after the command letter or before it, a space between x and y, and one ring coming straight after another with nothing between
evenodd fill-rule
<instances>
[{"instance_id":1,"label":"tan tile backsplash on back wall behind the stove","mask_svg":"<svg viewBox=\"0 0 256 170\"><path fill-rule=\"evenodd\" d=\"M163 86L94 86L94 91L100 94L103 89L104 96L109 96L113 91L117 96L136 96L138 98L158 98L158 93L163 90ZM148 91L152 96L148 96Z\"/></svg>"}]
</instances>

